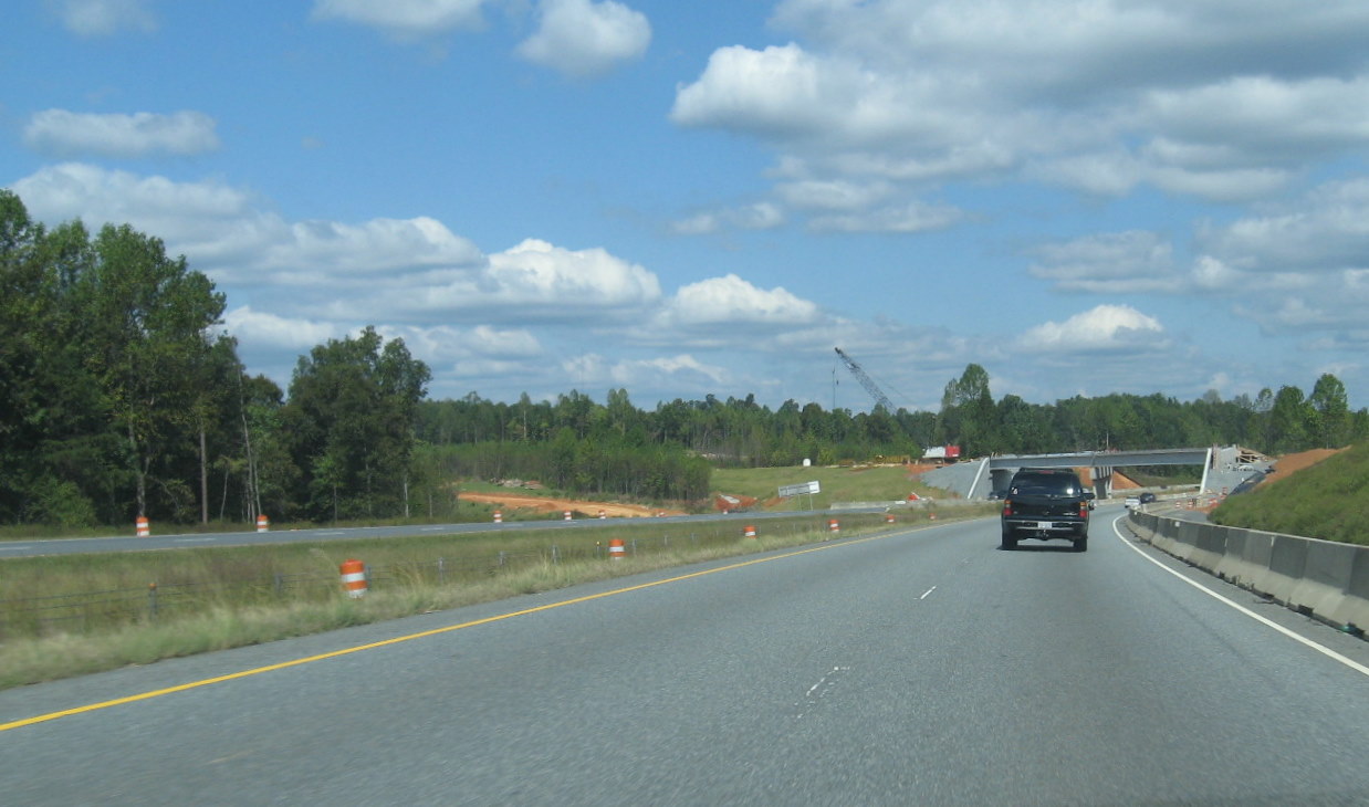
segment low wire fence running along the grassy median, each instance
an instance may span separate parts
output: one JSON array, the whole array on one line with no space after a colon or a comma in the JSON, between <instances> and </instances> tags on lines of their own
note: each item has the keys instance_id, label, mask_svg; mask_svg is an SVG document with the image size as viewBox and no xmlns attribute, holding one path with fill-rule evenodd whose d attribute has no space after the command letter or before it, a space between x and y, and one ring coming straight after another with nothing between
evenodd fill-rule
<instances>
[{"instance_id":1,"label":"low wire fence running along the grassy median","mask_svg":"<svg viewBox=\"0 0 1369 807\"><path fill-rule=\"evenodd\" d=\"M852 520L847 518L850 522ZM861 518L860 521L871 521ZM854 527L854 524L852 524ZM830 522L824 522L830 529ZM779 532L812 532L812 524L773 525ZM683 535L668 533L626 538L622 554L635 557L648 553L702 548L735 544L738 529L702 529ZM745 539L743 539L745 540ZM615 547L616 548L616 547ZM374 591L404 587L456 585L489 580L545 565L574 562L615 562L616 553L608 543L550 544L534 551L500 551L482 557L435 557L426 561L378 564L366 566L367 587ZM246 580L215 580L212 583L153 581L138 588L84 591L47 596L0 599L0 641L33 639L59 633L92 635L116 631L127 625L152 624L208 613L214 609L241 609L298 602L326 602L346 596L340 573L323 570L283 573Z\"/></svg>"}]
</instances>

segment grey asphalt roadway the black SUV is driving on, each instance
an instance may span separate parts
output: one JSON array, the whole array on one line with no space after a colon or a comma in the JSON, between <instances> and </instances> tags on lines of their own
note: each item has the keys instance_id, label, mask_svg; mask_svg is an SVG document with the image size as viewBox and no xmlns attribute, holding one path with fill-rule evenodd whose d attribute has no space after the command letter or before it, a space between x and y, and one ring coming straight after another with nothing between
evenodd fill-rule
<instances>
[{"instance_id":1,"label":"grey asphalt roadway the black SUV is driving on","mask_svg":"<svg viewBox=\"0 0 1369 807\"><path fill-rule=\"evenodd\" d=\"M1117 516L1082 554L899 529L0 692L0 793L1369 803L1369 643Z\"/></svg>"}]
</instances>

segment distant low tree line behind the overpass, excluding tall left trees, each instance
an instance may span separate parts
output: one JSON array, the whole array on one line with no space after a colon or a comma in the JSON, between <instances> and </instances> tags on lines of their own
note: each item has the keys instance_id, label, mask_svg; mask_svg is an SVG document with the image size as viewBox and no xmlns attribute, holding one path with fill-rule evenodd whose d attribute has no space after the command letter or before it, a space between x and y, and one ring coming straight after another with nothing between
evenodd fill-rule
<instances>
[{"instance_id":1,"label":"distant low tree line behind the overpass, excluding tall left trees","mask_svg":"<svg viewBox=\"0 0 1369 807\"><path fill-rule=\"evenodd\" d=\"M682 446L719 466L821 465L872 458L917 460L928 447L956 445L964 457L1109 449L1242 445L1269 454L1339 447L1369 436L1369 412L1351 412L1344 384L1331 373L1310 395L1294 386L1255 398L1223 401L1216 391L1191 402L1153 394L1113 394L1029 404L994 401L987 371L971 364L947 382L938 412L824 410L786 401L771 409L746 398L674 399L635 408L627 390L600 405L575 390L552 401L424 401L418 435L433 445L486 446L487 468L502 468L490 446L593 440L619 449Z\"/></svg>"}]
</instances>

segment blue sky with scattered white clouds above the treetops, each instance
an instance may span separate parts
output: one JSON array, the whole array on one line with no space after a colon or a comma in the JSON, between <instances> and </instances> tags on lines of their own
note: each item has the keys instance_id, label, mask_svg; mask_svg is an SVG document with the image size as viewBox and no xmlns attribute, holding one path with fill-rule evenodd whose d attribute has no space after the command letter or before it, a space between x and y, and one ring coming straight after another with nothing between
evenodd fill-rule
<instances>
[{"instance_id":1,"label":"blue sky with scattered white clouds above the treetops","mask_svg":"<svg viewBox=\"0 0 1369 807\"><path fill-rule=\"evenodd\" d=\"M15 0L0 185L430 395L935 409L1340 378L1369 405L1369 4ZM834 379L839 382L834 388Z\"/></svg>"}]
</instances>

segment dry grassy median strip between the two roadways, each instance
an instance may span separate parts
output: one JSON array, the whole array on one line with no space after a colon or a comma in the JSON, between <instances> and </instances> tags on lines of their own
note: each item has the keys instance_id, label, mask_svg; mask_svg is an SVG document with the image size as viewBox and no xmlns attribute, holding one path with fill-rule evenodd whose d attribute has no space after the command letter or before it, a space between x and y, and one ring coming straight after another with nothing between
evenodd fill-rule
<instances>
[{"instance_id":1,"label":"dry grassy median strip between the two roadways","mask_svg":"<svg viewBox=\"0 0 1369 807\"><path fill-rule=\"evenodd\" d=\"M950 518L986 516L960 507ZM828 518L839 520L839 532ZM48 555L0 561L0 688L260 644L398 617L552 591L638 572L754 554L927 522L908 512L709 522L608 522L266 547ZM624 540L611 559L609 540ZM345 559L363 561L370 592L346 596ZM155 585L152 585L155 584Z\"/></svg>"}]
</instances>

